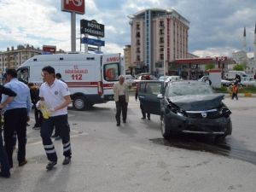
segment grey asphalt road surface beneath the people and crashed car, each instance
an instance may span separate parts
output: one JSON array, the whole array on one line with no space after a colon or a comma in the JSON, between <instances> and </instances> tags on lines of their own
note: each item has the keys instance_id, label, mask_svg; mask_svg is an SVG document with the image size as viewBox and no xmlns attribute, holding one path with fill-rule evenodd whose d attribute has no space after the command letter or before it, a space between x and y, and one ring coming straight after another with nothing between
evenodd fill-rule
<instances>
[{"instance_id":1,"label":"grey asphalt road surface beneath the people and crashed car","mask_svg":"<svg viewBox=\"0 0 256 192\"><path fill-rule=\"evenodd\" d=\"M115 124L114 102L90 111L69 110L72 163L47 172L39 131L27 128L26 166L14 162L12 176L0 178L1 192L216 192L255 191L256 98L225 100L233 134L225 140L179 136L166 141L160 118L143 120L131 97L127 123ZM31 124L33 124L33 119ZM14 160L16 153L14 153Z\"/></svg>"}]
</instances>

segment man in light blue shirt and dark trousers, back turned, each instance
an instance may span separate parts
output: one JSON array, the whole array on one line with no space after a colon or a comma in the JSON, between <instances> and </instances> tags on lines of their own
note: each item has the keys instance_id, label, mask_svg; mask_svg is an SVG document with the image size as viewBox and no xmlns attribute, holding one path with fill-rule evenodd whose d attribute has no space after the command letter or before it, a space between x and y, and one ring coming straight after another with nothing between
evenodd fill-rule
<instances>
[{"instance_id":1,"label":"man in light blue shirt and dark trousers, back turned","mask_svg":"<svg viewBox=\"0 0 256 192\"><path fill-rule=\"evenodd\" d=\"M5 87L15 91L17 96L5 108L3 136L5 149L9 158L9 165L13 167L13 136L17 132L18 137L18 162L19 166L26 165L26 123L29 121L29 113L31 111L31 96L29 88L26 84L17 79L15 69L7 69L7 81ZM3 95L3 101L6 96Z\"/></svg>"}]
</instances>

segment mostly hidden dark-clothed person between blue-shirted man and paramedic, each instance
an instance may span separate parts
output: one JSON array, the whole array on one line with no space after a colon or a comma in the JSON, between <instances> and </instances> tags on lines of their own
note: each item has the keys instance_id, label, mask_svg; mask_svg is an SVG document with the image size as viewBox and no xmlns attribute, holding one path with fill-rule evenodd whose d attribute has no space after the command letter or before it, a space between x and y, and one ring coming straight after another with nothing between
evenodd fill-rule
<instances>
[{"instance_id":1,"label":"mostly hidden dark-clothed person between blue-shirted man and paramedic","mask_svg":"<svg viewBox=\"0 0 256 192\"><path fill-rule=\"evenodd\" d=\"M32 104L34 106L34 117L35 117L35 125L32 127L35 130L40 129L43 119L43 114L38 108L36 108L36 104L39 101L39 87L33 83L28 83L28 87L30 89L30 95Z\"/></svg>"}]
</instances>

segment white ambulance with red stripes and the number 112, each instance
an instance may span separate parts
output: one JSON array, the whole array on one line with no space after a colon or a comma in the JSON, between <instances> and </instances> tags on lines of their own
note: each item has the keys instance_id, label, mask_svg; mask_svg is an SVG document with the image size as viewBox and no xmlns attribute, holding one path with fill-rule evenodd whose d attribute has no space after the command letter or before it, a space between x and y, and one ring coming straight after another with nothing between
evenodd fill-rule
<instances>
[{"instance_id":1,"label":"white ambulance with red stripes and the number 112","mask_svg":"<svg viewBox=\"0 0 256 192\"><path fill-rule=\"evenodd\" d=\"M120 54L36 55L18 69L18 79L42 84L42 68L51 66L61 73L73 100L73 108L84 110L96 103L113 101L113 84L121 71Z\"/></svg>"}]
</instances>

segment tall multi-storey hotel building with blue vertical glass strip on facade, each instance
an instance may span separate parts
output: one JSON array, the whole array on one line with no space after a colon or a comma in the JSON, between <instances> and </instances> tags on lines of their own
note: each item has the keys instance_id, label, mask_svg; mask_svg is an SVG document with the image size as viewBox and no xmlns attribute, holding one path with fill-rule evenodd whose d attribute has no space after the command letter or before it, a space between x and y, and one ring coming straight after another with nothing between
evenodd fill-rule
<instances>
[{"instance_id":1,"label":"tall multi-storey hotel building with blue vertical glass strip on facade","mask_svg":"<svg viewBox=\"0 0 256 192\"><path fill-rule=\"evenodd\" d=\"M189 20L174 9L144 9L129 18L137 72L163 74L166 66L167 73L171 61L188 56Z\"/></svg>"}]
</instances>

